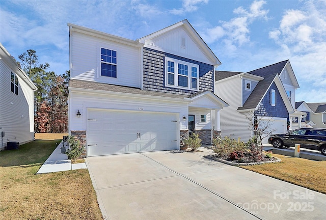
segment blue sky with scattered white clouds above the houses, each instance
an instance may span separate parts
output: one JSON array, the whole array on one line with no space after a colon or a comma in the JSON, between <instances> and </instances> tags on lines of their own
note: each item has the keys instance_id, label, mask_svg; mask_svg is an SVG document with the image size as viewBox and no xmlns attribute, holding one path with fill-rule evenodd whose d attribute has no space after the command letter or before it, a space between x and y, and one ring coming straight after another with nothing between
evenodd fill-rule
<instances>
[{"instance_id":1,"label":"blue sky with scattered white clouds above the houses","mask_svg":"<svg viewBox=\"0 0 326 220\"><path fill-rule=\"evenodd\" d=\"M136 40L187 19L222 62L249 72L290 60L295 101L326 102L326 1L0 1L0 42L69 70L67 23Z\"/></svg>"}]
</instances>

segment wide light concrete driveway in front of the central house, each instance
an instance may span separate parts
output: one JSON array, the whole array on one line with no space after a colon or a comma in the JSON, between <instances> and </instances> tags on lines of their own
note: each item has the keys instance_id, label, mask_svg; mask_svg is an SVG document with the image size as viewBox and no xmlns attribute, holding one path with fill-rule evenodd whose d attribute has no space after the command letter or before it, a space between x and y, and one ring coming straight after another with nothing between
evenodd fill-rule
<instances>
[{"instance_id":1,"label":"wide light concrete driveway in front of the central house","mask_svg":"<svg viewBox=\"0 0 326 220\"><path fill-rule=\"evenodd\" d=\"M89 157L106 219L321 219L326 195L203 157L161 151Z\"/></svg>"}]
</instances>

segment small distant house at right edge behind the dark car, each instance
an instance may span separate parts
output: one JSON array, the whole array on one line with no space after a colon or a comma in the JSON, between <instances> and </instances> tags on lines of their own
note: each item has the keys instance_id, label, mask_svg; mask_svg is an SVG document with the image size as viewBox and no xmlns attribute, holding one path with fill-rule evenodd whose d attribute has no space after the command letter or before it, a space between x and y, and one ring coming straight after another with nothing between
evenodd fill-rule
<instances>
[{"instance_id":1,"label":"small distant house at right edge behind the dark car","mask_svg":"<svg viewBox=\"0 0 326 220\"><path fill-rule=\"evenodd\" d=\"M301 121L304 125L326 128L326 102L307 103L305 101L296 102L295 106L298 111L307 113L306 117L302 116Z\"/></svg>"}]
</instances>

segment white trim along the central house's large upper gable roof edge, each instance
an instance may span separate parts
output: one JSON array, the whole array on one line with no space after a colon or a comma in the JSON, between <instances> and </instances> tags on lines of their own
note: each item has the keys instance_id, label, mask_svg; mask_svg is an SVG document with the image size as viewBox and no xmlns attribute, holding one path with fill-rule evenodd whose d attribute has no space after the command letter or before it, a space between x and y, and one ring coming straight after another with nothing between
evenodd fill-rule
<instances>
[{"instance_id":1,"label":"white trim along the central house's large upper gable roof edge","mask_svg":"<svg viewBox=\"0 0 326 220\"><path fill-rule=\"evenodd\" d=\"M205 54L205 56L214 63L215 67L220 66L222 64L221 61L216 57L214 52L208 47L208 45L200 37L200 35L197 33L197 31L193 28L193 26L189 23L189 21L187 19L184 19L182 21L179 21L175 24L168 26L167 28L161 29L161 30L156 31L152 34L149 34L145 37L142 37L138 41L142 44L145 44L146 40L153 39L160 35L166 34L167 32L173 31L173 30L179 28L180 26L182 26L184 28L184 30L187 32L187 34L189 34L189 36L192 37L194 42L202 50L202 52Z\"/></svg>"}]
</instances>

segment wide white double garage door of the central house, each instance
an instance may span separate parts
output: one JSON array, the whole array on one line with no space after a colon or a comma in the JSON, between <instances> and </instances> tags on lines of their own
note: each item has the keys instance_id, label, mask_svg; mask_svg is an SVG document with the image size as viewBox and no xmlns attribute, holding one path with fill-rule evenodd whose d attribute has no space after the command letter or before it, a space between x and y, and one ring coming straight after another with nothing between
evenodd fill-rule
<instances>
[{"instance_id":1,"label":"wide white double garage door of the central house","mask_svg":"<svg viewBox=\"0 0 326 220\"><path fill-rule=\"evenodd\" d=\"M89 110L87 156L177 149L177 114Z\"/></svg>"}]
</instances>

